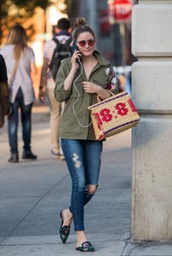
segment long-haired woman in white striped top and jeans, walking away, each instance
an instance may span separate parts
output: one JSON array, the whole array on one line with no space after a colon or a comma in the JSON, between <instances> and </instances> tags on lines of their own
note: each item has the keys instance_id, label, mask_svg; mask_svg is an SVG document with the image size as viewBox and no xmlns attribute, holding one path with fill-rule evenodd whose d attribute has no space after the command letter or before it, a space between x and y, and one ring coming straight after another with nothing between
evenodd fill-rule
<instances>
[{"instance_id":1,"label":"long-haired woman in white striped top and jeans, walking away","mask_svg":"<svg viewBox=\"0 0 172 256\"><path fill-rule=\"evenodd\" d=\"M17 131L19 125L19 109L21 115L23 153L22 159L36 160L37 155L32 153L32 104L34 102L34 89L32 86L31 73L36 74L35 56L33 50L27 46L26 30L20 26L14 26L9 32L6 44L1 49L6 66L8 78L11 81L9 102L12 113L9 115L9 146L11 156L9 162L19 161Z\"/></svg>"}]
</instances>

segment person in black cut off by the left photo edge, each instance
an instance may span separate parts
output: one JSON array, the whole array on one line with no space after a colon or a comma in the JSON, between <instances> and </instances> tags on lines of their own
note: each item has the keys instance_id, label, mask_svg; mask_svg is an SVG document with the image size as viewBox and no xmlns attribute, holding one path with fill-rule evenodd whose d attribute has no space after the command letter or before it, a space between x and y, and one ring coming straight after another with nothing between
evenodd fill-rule
<instances>
[{"instance_id":1,"label":"person in black cut off by the left photo edge","mask_svg":"<svg viewBox=\"0 0 172 256\"><path fill-rule=\"evenodd\" d=\"M3 55L0 55L0 128L4 125L4 117L9 108L9 85L7 68Z\"/></svg>"}]
</instances>

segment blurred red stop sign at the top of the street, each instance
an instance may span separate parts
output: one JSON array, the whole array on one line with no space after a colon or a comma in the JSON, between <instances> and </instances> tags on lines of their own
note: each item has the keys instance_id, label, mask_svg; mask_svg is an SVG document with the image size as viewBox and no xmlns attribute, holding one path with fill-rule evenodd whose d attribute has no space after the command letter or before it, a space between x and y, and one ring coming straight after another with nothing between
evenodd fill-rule
<instances>
[{"instance_id":1,"label":"blurred red stop sign at the top of the street","mask_svg":"<svg viewBox=\"0 0 172 256\"><path fill-rule=\"evenodd\" d=\"M128 21L131 17L133 0L108 0L110 22Z\"/></svg>"}]
</instances>

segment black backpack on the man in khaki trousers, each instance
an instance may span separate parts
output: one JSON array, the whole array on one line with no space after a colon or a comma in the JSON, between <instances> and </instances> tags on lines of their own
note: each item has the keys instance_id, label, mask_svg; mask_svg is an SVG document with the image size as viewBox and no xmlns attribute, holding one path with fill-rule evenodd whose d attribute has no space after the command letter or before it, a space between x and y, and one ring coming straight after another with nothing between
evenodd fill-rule
<instances>
[{"instance_id":1,"label":"black backpack on the man in khaki trousers","mask_svg":"<svg viewBox=\"0 0 172 256\"><path fill-rule=\"evenodd\" d=\"M51 70L55 81L61 61L72 56L72 49L70 46L72 38L67 40L64 38L62 41L59 41L57 38L53 38L53 40L57 45L55 46L53 57L49 64L49 69Z\"/></svg>"}]
</instances>

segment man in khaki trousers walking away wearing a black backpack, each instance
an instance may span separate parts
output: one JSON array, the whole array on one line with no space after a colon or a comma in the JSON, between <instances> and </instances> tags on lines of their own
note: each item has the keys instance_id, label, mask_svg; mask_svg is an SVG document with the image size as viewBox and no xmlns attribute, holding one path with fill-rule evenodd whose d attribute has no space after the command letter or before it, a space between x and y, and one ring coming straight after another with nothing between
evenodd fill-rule
<instances>
[{"instance_id":1,"label":"man in khaki trousers walking away wearing a black backpack","mask_svg":"<svg viewBox=\"0 0 172 256\"><path fill-rule=\"evenodd\" d=\"M55 40L67 42L71 37L71 24L70 20L61 18L58 20L55 30ZM39 100L45 101L45 94L47 89L49 108L50 108L50 143L51 154L54 158L64 160L64 154L60 145L60 119L63 110L64 103L57 102L54 98L54 86L53 73L49 68L49 64L54 55L54 49L56 47L55 40L51 39L44 44L43 50L43 68L41 73L41 82L39 86ZM65 54L65 53L64 53Z\"/></svg>"}]
</instances>

